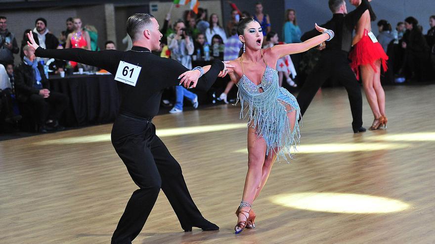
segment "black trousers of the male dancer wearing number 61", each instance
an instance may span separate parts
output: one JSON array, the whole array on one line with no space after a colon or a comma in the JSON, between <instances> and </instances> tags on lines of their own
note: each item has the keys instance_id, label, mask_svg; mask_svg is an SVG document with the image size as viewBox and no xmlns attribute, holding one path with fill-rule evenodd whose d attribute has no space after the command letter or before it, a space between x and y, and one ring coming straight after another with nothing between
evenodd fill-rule
<instances>
[{"instance_id":1,"label":"black trousers of the male dancer wearing number 61","mask_svg":"<svg viewBox=\"0 0 435 244\"><path fill-rule=\"evenodd\" d=\"M139 234L160 189L184 230L203 220L187 190L180 165L156 136L156 127L150 121L120 114L113 124L111 137L115 151L139 187L127 203L113 233L112 244L130 244Z\"/></svg>"}]
</instances>

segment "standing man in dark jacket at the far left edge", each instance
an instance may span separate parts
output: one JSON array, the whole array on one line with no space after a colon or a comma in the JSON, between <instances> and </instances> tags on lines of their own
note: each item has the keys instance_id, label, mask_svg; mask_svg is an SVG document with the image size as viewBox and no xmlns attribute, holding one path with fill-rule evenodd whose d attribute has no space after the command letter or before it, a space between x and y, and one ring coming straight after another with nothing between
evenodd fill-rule
<instances>
[{"instance_id":1,"label":"standing man in dark jacket at the far left edge","mask_svg":"<svg viewBox=\"0 0 435 244\"><path fill-rule=\"evenodd\" d=\"M19 50L15 35L7 30L7 18L0 16L0 64L13 64L13 55Z\"/></svg>"}]
</instances>

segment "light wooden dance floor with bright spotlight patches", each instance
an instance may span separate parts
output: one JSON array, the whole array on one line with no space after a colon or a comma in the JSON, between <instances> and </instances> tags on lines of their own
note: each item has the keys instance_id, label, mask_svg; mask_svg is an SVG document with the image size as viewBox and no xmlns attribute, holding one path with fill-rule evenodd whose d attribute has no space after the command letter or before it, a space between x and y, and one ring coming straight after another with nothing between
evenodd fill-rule
<instances>
[{"instance_id":1,"label":"light wooden dance floor with bright spotlight patches","mask_svg":"<svg viewBox=\"0 0 435 244\"><path fill-rule=\"evenodd\" d=\"M296 160L275 163L234 235L247 172L239 106L157 116L190 193L219 231L184 233L161 192L133 243L435 243L435 85L386 87L387 130L352 133L344 89L323 89L304 117ZM364 96L364 94L363 94ZM373 115L363 97L364 126ZM108 244L137 189L112 125L0 142L0 243Z\"/></svg>"}]
</instances>

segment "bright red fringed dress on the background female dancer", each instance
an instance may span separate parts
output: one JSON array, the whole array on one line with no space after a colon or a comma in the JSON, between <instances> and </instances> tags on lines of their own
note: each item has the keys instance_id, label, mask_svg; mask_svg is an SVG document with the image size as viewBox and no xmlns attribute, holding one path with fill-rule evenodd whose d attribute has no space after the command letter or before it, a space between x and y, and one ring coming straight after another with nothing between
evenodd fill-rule
<instances>
[{"instance_id":1,"label":"bright red fringed dress on the background female dancer","mask_svg":"<svg viewBox=\"0 0 435 244\"><path fill-rule=\"evenodd\" d=\"M372 39L368 36L368 31L364 30L364 34L359 40L353 50L349 54L349 59L352 60L350 68L355 72L356 78L359 79L359 66L370 64L373 70L376 70L375 61L381 60L384 72L387 70L388 56L385 53L379 42L373 43Z\"/></svg>"}]
</instances>

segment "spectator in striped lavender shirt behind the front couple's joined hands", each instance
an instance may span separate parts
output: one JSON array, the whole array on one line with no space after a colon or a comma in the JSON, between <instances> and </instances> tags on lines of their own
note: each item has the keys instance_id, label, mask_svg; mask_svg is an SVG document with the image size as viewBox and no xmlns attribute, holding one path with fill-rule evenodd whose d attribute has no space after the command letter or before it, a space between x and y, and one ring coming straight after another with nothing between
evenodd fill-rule
<instances>
[{"instance_id":1,"label":"spectator in striped lavender shirt behind the front couple's joined hands","mask_svg":"<svg viewBox=\"0 0 435 244\"><path fill-rule=\"evenodd\" d=\"M226 39L225 48L223 49L223 60L236 60L239 57L240 48L243 44L239 40L239 35L237 35L237 25L233 26L229 32L230 36ZM228 93L233 88L234 82L229 81L225 87L225 90L217 98L218 101L223 101L228 104Z\"/></svg>"}]
</instances>

